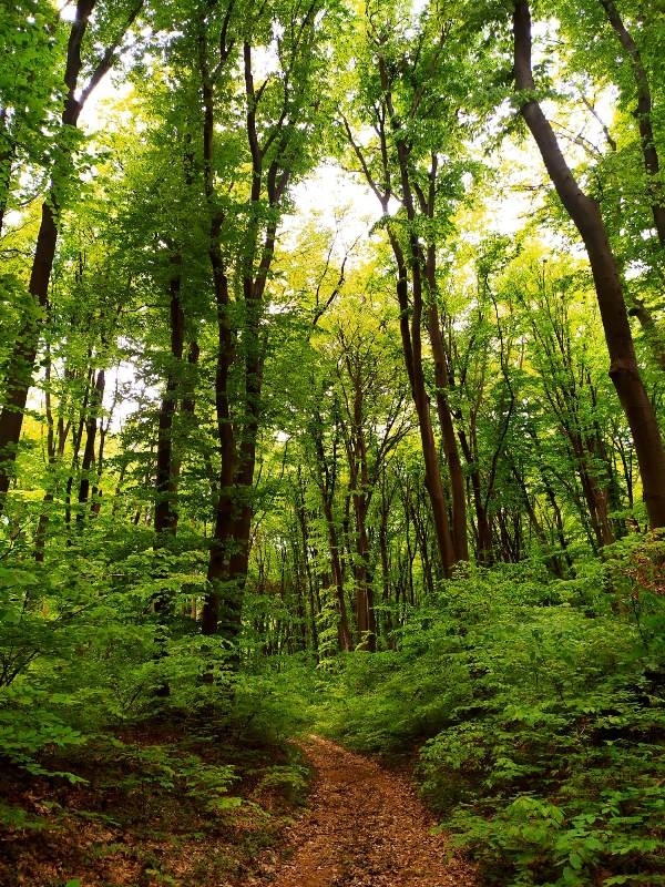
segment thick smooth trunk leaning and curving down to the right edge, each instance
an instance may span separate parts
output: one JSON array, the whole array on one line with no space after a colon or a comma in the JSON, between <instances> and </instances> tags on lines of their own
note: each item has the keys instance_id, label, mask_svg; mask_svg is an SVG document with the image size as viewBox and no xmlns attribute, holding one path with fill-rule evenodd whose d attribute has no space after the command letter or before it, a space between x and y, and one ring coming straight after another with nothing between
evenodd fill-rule
<instances>
[{"instance_id":1,"label":"thick smooth trunk leaning and curving down to the right edge","mask_svg":"<svg viewBox=\"0 0 665 887\"><path fill-rule=\"evenodd\" d=\"M530 96L534 93L535 83L531 70L531 13L528 0L516 0L513 26L515 84L520 93ZM522 116L539 146L561 202L586 247L610 353L610 377L633 436L649 524L652 528L664 527L665 450L653 405L640 376L617 264L598 204L580 188L540 103L533 98L521 101Z\"/></svg>"}]
</instances>

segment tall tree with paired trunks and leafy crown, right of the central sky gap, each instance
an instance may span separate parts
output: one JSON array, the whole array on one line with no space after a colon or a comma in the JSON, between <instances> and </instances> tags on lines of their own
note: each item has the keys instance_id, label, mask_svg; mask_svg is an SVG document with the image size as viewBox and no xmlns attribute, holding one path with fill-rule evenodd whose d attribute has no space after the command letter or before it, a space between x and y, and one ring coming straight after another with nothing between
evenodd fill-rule
<instances>
[{"instance_id":1,"label":"tall tree with paired trunks and leafy crown, right of the central sky gap","mask_svg":"<svg viewBox=\"0 0 665 887\"><path fill-rule=\"evenodd\" d=\"M454 157L451 90L461 77L462 60L450 59L454 26L436 12L416 20L397 3L368 8L361 23L364 68L358 84L360 102L344 118L352 155L381 206L396 265L400 334L411 395L421 435L439 554L447 574L468 557L466 492L452 415L448 402L449 355L443 346L437 252L450 225L456 198L461 196L461 166ZM442 70L443 69L443 70ZM365 144L356 125L369 125L376 137ZM446 153L449 152L449 153ZM392 202L401 212L392 214ZM449 471L450 491L442 480L430 412L423 333L434 364L434 400ZM451 518L448 499L451 499Z\"/></svg>"}]
</instances>

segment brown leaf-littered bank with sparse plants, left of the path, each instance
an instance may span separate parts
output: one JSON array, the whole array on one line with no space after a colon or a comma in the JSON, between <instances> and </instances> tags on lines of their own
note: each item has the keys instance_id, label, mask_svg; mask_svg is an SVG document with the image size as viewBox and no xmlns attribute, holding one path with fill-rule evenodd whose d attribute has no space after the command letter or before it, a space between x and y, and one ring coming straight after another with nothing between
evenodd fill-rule
<instances>
[{"instance_id":1,"label":"brown leaf-littered bank with sparse plants, left of the path","mask_svg":"<svg viewBox=\"0 0 665 887\"><path fill-rule=\"evenodd\" d=\"M202 726L53 748L44 775L0 758L0 887L244 884L301 809L306 771L295 750Z\"/></svg>"}]
</instances>

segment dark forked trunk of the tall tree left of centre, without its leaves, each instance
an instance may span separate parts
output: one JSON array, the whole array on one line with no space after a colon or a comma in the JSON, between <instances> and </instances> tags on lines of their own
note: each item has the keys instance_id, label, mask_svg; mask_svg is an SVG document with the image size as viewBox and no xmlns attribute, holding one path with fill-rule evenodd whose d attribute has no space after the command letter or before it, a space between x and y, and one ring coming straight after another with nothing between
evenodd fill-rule
<instances>
[{"instance_id":1,"label":"dark forked trunk of the tall tree left of centre, without its leaves","mask_svg":"<svg viewBox=\"0 0 665 887\"><path fill-rule=\"evenodd\" d=\"M233 4L229 4L225 22L228 22ZM224 45L226 23L223 26L221 65L228 60ZM311 9L303 21L311 29ZM242 609L249 559L249 534L252 528L253 482L256 462L256 441L258 436L263 364L265 345L262 337L263 298L275 253L277 231L277 208L287 186L289 172L280 169L275 159L264 169L264 150L259 144L256 111L258 96L254 89L252 47L243 45L246 99L246 135L252 156L252 182L249 187L249 222L245 235L245 246L241 262L243 284L243 417L237 436L231 415L229 376L236 359L236 330L229 316L229 290L226 268L221 248L221 232L224 216L215 207L215 183L213 173L214 137L214 81L207 68L205 34L201 38L200 67L204 99L204 187L211 211L208 255L213 271L213 284L217 306L217 371L215 401L217 434L221 452L219 495L216 503L215 531L211 546L207 580L211 588L206 597L202 631L204 634L219 633L231 644L237 641L242 628ZM284 119L277 124L269 139L278 137L282 151L288 152L289 135L286 134ZM278 152L279 153L279 152ZM265 193L264 193L265 192ZM267 222L263 237L259 235L260 213L258 206L267 198L273 217ZM238 660L234 654L234 664Z\"/></svg>"}]
</instances>

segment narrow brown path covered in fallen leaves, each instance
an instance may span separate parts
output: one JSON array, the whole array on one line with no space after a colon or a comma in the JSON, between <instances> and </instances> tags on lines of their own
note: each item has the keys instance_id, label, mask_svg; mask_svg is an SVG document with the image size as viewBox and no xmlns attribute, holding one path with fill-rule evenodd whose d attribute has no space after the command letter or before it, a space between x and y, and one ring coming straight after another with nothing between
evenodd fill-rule
<instances>
[{"instance_id":1,"label":"narrow brown path covered in fallen leaves","mask_svg":"<svg viewBox=\"0 0 665 887\"><path fill-rule=\"evenodd\" d=\"M288 835L293 855L270 887L472 887L468 863L409 781L319 736L299 743L316 769L310 809ZM265 883L265 881L264 881Z\"/></svg>"}]
</instances>

